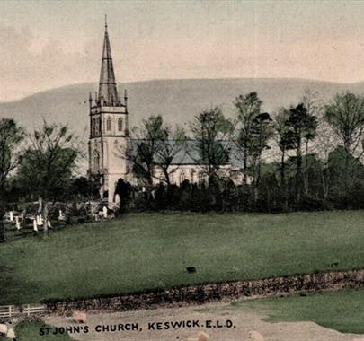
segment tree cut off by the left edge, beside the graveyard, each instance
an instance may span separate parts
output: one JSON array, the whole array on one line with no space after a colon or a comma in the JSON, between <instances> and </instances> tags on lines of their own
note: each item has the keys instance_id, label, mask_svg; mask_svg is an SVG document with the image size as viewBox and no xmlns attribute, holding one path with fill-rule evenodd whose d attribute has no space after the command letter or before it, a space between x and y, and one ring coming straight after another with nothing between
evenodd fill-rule
<instances>
[{"instance_id":1,"label":"tree cut off by the left edge, beside the graveyard","mask_svg":"<svg viewBox=\"0 0 364 341\"><path fill-rule=\"evenodd\" d=\"M22 127L13 119L0 119L0 241L4 241L5 182L18 165L24 135Z\"/></svg>"}]
</instances>

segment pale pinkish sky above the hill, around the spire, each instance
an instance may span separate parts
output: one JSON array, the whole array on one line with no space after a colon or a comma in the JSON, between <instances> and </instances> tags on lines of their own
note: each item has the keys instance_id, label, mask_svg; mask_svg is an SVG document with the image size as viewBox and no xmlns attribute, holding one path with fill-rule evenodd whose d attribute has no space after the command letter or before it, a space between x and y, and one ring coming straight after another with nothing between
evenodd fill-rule
<instances>
[{"instance_id":1,"label":"pale pinkish sky above the hill, around the spire","mask_svg":"<svg viewBox=\"0 0 364 341\"><path fill-rule=\"evenodd\" d=\"M0 101L97 82L104 14L119 82L364 81L364 1L0 2Z\"/></svg>"}]
</instances>

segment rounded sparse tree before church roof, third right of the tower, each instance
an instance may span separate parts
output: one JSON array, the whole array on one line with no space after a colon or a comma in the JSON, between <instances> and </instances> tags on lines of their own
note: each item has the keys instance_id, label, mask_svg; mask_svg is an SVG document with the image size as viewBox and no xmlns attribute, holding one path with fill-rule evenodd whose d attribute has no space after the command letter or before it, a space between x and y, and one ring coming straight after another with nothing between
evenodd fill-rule
<instances>
[{"instance_id":1,"label":"rounded sparse tree before church roof, third right of the tower","mask_svg":"<svg viewBox=\"0 0 364 341\"><path fill-rule=\"evenodd\" d=\"M218 107L205 109L190 123L194 149L209 181L218 178L218 170L229 161L232 124Z\"/></svg>"}]
</instances>

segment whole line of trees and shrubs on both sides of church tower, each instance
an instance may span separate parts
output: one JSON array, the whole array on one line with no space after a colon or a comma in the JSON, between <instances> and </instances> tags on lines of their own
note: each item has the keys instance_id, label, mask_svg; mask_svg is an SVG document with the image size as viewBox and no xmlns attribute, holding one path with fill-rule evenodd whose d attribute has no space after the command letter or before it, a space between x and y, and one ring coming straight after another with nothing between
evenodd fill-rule
<instances>
[{"instance_id":1,"label":"whole line of trees and shrubs on both sides of church tower","mask_svg":"<svg viewBox=\"0 0 364 341\"><path fill-rule=\"evenodd\" d=\"M121 210L363 208L364 97L343 92L323 103L306 92L301 100L267 113L256 92L242 94L233 116L204 109L188 128L146 118L130 131L132 148L120 153L138 180L120 180ZM83 151L67 126L44 122L26 132L0 119L0 214L6 203L38 200L47 222L52 203L98 198L98 179L75 176ZM199 181L176 186L182 166L175 161L183 156Z\"/></svg>"}]
</instances>

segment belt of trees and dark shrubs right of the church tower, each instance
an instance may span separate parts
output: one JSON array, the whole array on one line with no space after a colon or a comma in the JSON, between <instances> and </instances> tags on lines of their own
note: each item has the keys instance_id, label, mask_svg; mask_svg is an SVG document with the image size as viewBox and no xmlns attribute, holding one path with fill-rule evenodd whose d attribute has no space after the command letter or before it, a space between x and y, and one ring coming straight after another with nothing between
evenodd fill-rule
<instances>
[{"instance_id":1,"label":"belt of trees and dark shrubs right of the church tower","mask_svg":"<svg viewBox=\"0 0 364 341\"><path fill-rule=\"evenodd\" d=\"M343 92L323 103L306 92L301 100L267 113L256 92L240 95L235 117L218 107L205 109L188 132L160 116L147 118L132 130L138 144L127 155L145 191L120 193L129 197L124 205L261 212L363 208L364 97ZM182 151L201 165L200 183L173 185L173 160ZM241 180L233 181L229 169Z\"/></svg>"}]
</instances>

